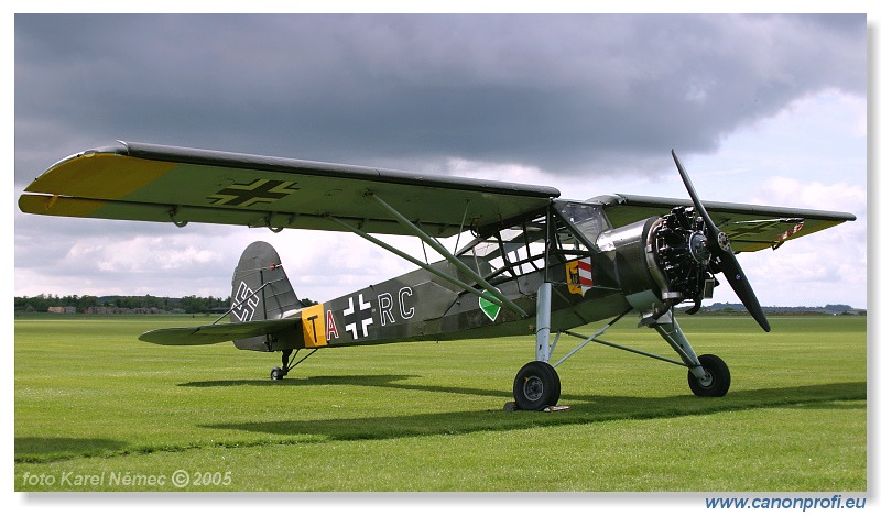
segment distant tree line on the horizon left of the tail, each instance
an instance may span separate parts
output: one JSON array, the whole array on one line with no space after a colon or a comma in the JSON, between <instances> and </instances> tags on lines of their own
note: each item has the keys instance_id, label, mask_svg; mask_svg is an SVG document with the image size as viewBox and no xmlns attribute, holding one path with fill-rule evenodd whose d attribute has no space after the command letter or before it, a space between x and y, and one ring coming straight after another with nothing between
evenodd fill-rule
<instances>
[{"instance_id":1,"label":"distant tree line on the horizon left of the tail","mask_svg":"<svg viewBox=\"0 0 881 516\"><path fill-rule=\"evenodd\" d=\"M229 308L230 298L221 297L157 297L157 296L15 296L15 311L48 311L51 307L72 307L77 314L93 308L119 308L122 310L156 309L159 311L204 314L220 308Z\"/></svg>"}]
</instances>

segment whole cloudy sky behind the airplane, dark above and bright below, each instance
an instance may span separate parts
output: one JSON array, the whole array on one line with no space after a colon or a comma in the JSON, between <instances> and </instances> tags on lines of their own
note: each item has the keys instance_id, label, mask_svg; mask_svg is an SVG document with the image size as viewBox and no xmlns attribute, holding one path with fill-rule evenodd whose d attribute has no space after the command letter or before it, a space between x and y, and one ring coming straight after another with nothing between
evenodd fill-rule
<instances>
[{"instance_id":1,"label":"whole cloudy sky behind the airplane, dark above and bright below","mask_svg":"<svg viewBox=\"0 0 881 516\"><path fill-rule=\"evenodd\" d=\"M867 305L864 15L18 14L14 45L14 199L116 140L575 199L685 197L675 147L704 199L858 217L741 255L764 305ZM412 268L341 233L14 211L15 295L226 297L253 240L316 300Z\"/></svg>"}]
</instances>

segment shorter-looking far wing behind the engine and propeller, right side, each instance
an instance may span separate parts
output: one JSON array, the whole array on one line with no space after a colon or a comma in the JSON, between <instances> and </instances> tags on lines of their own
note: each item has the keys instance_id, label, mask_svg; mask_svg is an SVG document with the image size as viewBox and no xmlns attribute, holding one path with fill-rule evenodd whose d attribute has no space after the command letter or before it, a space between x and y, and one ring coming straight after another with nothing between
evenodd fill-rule
<instances>
[{"instance_id":1,"label":"shorter-looking far wing behind the engine and propeller, right side","mask_svg":"<svg viewBox=\"0 0 881 516\"><path fill-rule=\"evenodd\" d=\"M600 196L591 202L603 205L609 222L618 228L652 216L663 216L690 200L633 195ZM784 241L814 233L848 220L851 213L817 211L733 202L703 202L716 226L724 231L735 252L779 248Z\"/></svg>"}]
</instances>

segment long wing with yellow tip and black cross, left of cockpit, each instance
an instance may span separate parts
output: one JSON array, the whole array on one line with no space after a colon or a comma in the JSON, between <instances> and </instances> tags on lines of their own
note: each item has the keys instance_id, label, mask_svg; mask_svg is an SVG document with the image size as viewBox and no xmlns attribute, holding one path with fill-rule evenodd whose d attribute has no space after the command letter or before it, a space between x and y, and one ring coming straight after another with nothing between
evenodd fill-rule
<instances>
[{"instance_id":1,"label":"long wing with yellow tip and black cross, left of cockpit","mask_svg":"<svg viewBox=\"0 0 881 516\"><path fill-rule=\"evenodd\" d=\"M209 222L436 238L545 209L555 188L351 165L124 143L53 165L22 211L99 219ZM391 208L393 207L393 208Z\"/></svg>"}]
</instances>

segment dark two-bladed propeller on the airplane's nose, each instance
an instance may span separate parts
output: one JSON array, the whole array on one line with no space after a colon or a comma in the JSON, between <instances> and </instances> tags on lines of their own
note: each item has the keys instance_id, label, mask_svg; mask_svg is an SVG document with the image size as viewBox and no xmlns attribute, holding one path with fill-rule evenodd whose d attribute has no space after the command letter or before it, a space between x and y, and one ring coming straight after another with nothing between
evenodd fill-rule
<instances>
[{"instance_id":1,"label":"dark two-bladed propeller on the airplane's nose","mask_svg":"<svg viewBox=\"0 0 881 516\"><path fill-rule=\"evenodd\" d=\"M771 325L768 323L768 318L762 311L762 306L759 304L759 299L755 297L755 293L752 290L747 275L743 274L743 270L740 268L735 252L731 250L728 235L720 231L713 222L713 219L710 219L709 213L706 208L704 208L704 204L700 202L700 198L697 196L697 190L692 184L692 179L688 178L688 173L685 172L685 167L679 163L676 151L671 151L671 153L673 154L673 161L676 163L676 168L679 171L679 176L682 176L682 180L685 184L685 189L688 190L688 196L695 205L695 209L700 213L700 217L704 218L707 246L713 254L713 259L717 262L722 274L725 274L728 284L731 285L737 297L740 298L740 301L747 307L752 318L755 319L755 322L758 322L764 331L771 331Z\"/></svg>"}]
</instances>

